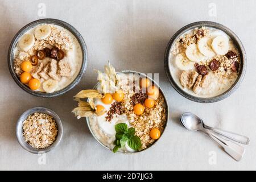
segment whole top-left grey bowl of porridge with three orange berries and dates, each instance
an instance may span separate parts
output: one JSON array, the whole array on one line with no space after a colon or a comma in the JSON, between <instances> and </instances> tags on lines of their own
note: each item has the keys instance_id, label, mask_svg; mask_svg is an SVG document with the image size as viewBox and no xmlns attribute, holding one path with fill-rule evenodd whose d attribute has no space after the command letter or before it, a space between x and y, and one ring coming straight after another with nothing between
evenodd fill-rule
<instances>
[{"instance_id":1,"label":"whole top-left grey bowl of porridge with three orange berries and dates","mask_svg":"<svg viewBox=\"0 0 256 182\"><path fill-rule=\"evenodd\" d=\"M15 82L39 97L55 97L71 90L87 66L84 39L70 24L39 19L13 38L8 54Z\"/></svg>"}]
</instances>

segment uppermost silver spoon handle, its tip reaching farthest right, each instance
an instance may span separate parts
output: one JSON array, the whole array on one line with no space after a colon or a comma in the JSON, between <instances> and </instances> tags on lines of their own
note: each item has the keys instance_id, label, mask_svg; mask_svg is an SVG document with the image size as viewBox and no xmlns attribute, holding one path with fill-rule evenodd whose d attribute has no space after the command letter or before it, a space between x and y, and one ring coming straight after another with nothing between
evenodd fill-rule
<instances>
[{"instance_id":1,"label":"uppermost silver spoon handle, its tip reaching farthest right","mask_svg":"<svg viewBox=\"0 0 256 182\"><path fill-rule=\"evenodd\" d=\"M205 129L209 129L212 130L220 135L223 135L226 138L232 139L238 143L242 143L242 144L249 144L250 143L250 139L248 137L245 137L243 135L240 134L236 134L236 133L232 133L229 131L225 131L225 130L221 130L221 129L217 129L217 128L213 128L207 125L204 125Z\"/></svg>"}]
</instances>

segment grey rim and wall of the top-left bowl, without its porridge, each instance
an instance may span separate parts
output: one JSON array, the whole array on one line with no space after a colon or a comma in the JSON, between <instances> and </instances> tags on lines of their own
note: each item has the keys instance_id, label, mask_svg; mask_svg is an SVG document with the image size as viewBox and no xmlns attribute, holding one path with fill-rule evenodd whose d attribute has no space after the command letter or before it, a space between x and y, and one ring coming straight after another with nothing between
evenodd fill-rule
<instances>
[{"instance_id":1,"label":"grey rim and wall of the top-left bowl, without its porridge","mask_svg":"<svg viewBox=\"0 0 256 182\"><path fill-rule=\"evenodd\" d=\"M14 71L14 52L15 52L15 47L18 44L18 40L27 31L38 26L39 24L44 24L44 23L55 24L57 26L63 27L65 29L67 29L68 31L70 31L75 36L75 38L78 40L80 47L81 47L81 51L82 51L81 68L80 68L80 71L79 71L78 75L76 76L76 78L71 82L71 84L69 84L65 88L58 90L56 92L53 92L53 93L45 93L45 92L38 92L38 91L31 90L30 88L28 88L28 86L26 86L26 85L22 84L22 82L20 82L19 77L16 75L16 73ZM36 20L36 21L31 22L31 23L27 24L26 26L24 26L14 36L13 40L11 41L10 47L9 47L8 65L9 65L9 70L10 70L11 76L13 76L16 84L18 84L20 86L20 88L25 90L27 93L30 93L33 96L38 96L38 97L60 96L61 94L64 94L64 93L68 92L69 90L71 90L72 88L74 88L81 80L82 75L84 75L84 72L86 71L86 67L87 67L87 48L86 48L86 44L85 44L84 39L82 38L81 34L79 33L79 31L76 30L76 28L71 26L71 24L63 22L62 20L59 20L59 19L51 19L51 18L39 19L39 20Z\"/></svg>"}]
</instances>

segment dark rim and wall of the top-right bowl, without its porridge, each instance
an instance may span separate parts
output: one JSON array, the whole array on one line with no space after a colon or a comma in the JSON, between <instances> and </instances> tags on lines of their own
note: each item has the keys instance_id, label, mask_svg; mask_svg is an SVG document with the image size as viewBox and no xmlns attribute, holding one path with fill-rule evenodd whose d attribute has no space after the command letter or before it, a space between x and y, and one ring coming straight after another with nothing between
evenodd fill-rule
<instances>
[{"instance_id":1,"label":"dark rim and wall of the top-right bowl, without its porridge","mask_svg":"<svg viewBox=\"0 0 256 182\"><path fill-rule=\"evenodd\" d=\"M197 27L202 27L202 26L216 28L218 30L225 32L225 34L227 34L233 40L233 43L237 47L238 51L240 52L240 57L241 57L240 72L238 73L237 80L234 82L234 84L228 90L226 90L226 92L224 92L218 96L210 97L210 98L196 97L196 96L192 96L191 94L185 92L183 89L180 88L179 85L177 85L177 83L175 82L174 78L172 77L171 71L170 71L170 68L172 67L172 65L170 63L171 50L172 50L172 47L175 45L176 40L179 39L180 36L183 35L185 32L192 30L194 28L197 28ZM164 55L164 69L166 71L166 75L167 75L168 80L170 81L171 85L174 87L174 89L179 94L181 94L181 96L188 98L189 100L192 100L195 102L201 102L201 103L217 102L217 101L221 101L224 98L230 96L230 94L235 92L237 90L237 88L240 86L240 84L243 80L243 77L245 76L245 72L246 72L246 53L245 53L245 49L243 48L241 40L229 28L225 27L224 25L222 25L220 23L216 23L216 22L208 22L208 21L195 22L195 23L188 24L187 26L184 26L179 31L177 31L174 34L174 36L172 36L170 42L167 45L166 53Z\"/></svg>"}]
</instances>

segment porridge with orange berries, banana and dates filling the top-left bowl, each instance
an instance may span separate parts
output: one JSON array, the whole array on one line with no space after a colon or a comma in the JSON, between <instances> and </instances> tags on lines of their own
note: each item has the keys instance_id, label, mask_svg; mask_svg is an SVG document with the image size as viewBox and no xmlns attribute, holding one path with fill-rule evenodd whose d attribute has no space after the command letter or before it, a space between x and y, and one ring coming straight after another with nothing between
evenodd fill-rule
<instances>
[{"instance_id":1,"label":"porridge with orange berries, banana and dates filling the top-left bowl","mask_svg":"<svg viewBox=\"0 0 256 182\"><path fill-rule=\"evenodd\" d=\"M40 24L27 31L14 52L14 69L20 81L38 92L53 93L77 77L82 49L75 36L55 24Z\"/></svg>"}]
</instances>

